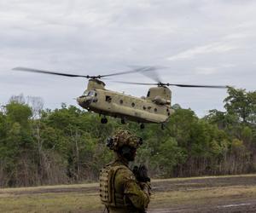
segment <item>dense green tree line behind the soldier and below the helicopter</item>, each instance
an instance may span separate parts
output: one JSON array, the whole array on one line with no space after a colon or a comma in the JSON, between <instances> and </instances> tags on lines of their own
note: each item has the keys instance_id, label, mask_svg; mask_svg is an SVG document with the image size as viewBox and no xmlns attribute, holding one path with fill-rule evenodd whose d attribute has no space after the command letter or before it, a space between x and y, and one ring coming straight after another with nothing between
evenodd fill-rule
<instances>
[{"instance_id":1,"label":"dense green tree line behind the soldier and below the helicopter","mask_svg":"<svg viewBox=\"0 0 256 213\"><path fill-rule=\"evenodd\" d=\"M13 96L0 110L0 186L27 187L96 181L113 158L106 139L119 128L143 138L134 164L150 176L233 175L256 171L256 91L228 89L224 112L198 118L191 109L175 112L159 124L120 124L97 114L61 105L44 109L38 97Z\"/></svg>"}]
</instances>

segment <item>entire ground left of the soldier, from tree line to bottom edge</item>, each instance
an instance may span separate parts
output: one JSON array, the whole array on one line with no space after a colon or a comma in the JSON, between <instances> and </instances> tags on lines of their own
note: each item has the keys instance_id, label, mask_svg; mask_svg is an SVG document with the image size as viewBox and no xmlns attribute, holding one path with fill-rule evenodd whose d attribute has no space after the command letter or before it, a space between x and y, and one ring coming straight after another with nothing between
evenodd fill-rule
<instances>
[{"instance_id":1,"label":"entire ground left of the soldier, from tree line to bottom edge","mask_svg":"<svg viewBox=\"0 0 256 213\"><path fill-rule=\"evenodd\" d=\"M0 212L92 212L100 210L102 204L94 189L97 186L98 183L89 183L3 188L0 189ZM88 192L86 192L87 189L89 189Z\"/></svg>"}]
</instances>

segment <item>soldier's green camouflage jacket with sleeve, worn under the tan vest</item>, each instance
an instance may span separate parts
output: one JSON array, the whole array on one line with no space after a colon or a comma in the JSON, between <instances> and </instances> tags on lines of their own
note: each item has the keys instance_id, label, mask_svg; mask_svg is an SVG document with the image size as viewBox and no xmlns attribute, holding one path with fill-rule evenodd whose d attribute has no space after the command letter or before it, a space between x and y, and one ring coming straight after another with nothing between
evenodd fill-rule
<instances>
[{"instance_id":1,"label":"soldier's green camouflage jacket with sleeve, worn under the tan vest","mask_svg":"<svg viewBox=\"0 0 256 213\"><path fill-rule=\"evenodd\" d=\"M149 195L140 187L125 159L118 158L107 167L116 170L113 176L114 204L106 204L109 213L141 213L146 212Z\"/></svg>"}]
</instances>

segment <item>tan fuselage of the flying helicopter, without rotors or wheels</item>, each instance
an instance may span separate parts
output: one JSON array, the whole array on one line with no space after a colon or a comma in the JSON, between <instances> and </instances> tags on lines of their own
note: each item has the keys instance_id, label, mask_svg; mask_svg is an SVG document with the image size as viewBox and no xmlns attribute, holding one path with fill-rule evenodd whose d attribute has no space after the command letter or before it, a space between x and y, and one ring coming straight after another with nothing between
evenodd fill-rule
<instances>
[{"instance_id":1,"label":"tan fuselage of the flying helicopter, without rotors or wheels","mask_svg":"<svg viewBox=\"0 0 256 213\"><path fill-rule=\"evenodd\" d=\"M91 80L90 84L95 80ZM97 83L102 83L97 80ZM122 118L138 123L164 123L171 115L170 101L163 101L159 96L154 101L149 97L138 98L125 95L103 86L91 86L84 91L77 101L79 106L90 112L96 112L103 116ZM149 96L149 95L148 95Z\"/></svg>"}]
</instances>

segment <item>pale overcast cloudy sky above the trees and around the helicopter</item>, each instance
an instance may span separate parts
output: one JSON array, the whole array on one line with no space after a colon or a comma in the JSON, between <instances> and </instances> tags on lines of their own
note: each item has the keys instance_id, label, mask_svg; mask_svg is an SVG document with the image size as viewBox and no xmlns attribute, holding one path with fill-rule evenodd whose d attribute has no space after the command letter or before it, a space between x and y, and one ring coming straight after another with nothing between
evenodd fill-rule
<instances>
[{"instance_id":1,"label":"pale overcast cloudy sky above the trees and around the helicopter","mask_svg":"<svg viewBox=\"0 0 256 213\"><path fill-rule=\"evenodd\" d=\"M0 104L39 96L45 108L76 105L84 78L12 71L26 66L81 75L164 66L166 83L255 90L256 1L0 0ZM140 73L105 80L106 88L143 96L154 83ZM171 87L172 104L202 117L224 110L226 89Z\"/></svg>"}]
</instances>

